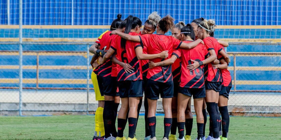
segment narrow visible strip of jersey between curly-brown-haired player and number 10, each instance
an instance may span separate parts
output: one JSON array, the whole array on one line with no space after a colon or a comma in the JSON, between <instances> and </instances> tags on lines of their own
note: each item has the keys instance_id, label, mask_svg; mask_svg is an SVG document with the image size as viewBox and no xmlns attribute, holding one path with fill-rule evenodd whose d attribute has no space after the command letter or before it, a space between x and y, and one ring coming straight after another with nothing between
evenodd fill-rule
<instances>
[{"instance_id":1,"label":"narrow visible strip of jersey between curly-brown-haired player and number 10","mask_svg":"<svg viewBox=\"0 0 281 140\"><path fill-rule=\"evenodd\" d=\"M173 52L173 55L176 54L178 50L175 50ZM178 56L177 56L178 57ZM173 75L173 81L180 81L180 75L182 73L182 64L180 59L176 59L175 62L172 64L172 75Z\"/></svg>"}]
</instances>

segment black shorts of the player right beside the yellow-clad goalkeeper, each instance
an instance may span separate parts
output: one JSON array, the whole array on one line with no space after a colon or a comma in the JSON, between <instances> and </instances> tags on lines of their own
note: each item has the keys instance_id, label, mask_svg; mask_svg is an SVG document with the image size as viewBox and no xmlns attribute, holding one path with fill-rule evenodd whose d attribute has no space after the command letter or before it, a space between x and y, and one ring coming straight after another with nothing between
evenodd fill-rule
<instances>
[{"instance_id":1,"label":"black shorts of the player right beside the yellow-clad goalkeeper","mask_svg":"<svg viewBox=\"0 0 281 140\"><path fill-rule=\"evenodd\" d=\"M99 91L101 92L101 95L107 95L107 96L119 96L119 93L117 92L117 80L116 77L111 76L97 76L98 85L99 85Z\"/></svg>"}]
</instances>

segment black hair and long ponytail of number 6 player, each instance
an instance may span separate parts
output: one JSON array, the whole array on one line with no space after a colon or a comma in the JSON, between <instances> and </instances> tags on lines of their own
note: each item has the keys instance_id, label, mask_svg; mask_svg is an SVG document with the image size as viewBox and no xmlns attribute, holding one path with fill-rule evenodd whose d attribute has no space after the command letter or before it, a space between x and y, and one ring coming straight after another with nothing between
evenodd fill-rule
<instances>
[{"instance_id":1,"label":"black hair and long ponytail of number 6 player","mask_svg":"<svg viewBox=\"0 0 281 140\"><path fill-rule=\"evenodd\" d=\"M125 27L125 34L129 34L131 29L135 29L137 26L141 26L142 22L139 18L133 17L132 15L129 15L126 19L126 27ZM126 48L126 39L121 38L121 47L123 49Z\"/></svg>"}]
</instances>

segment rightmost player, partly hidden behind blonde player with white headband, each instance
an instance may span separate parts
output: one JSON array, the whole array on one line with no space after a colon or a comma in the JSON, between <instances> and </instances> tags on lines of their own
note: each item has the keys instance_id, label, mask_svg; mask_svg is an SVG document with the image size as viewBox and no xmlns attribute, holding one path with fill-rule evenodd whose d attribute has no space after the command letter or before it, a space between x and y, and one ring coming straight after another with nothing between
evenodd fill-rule
<instances>
[{"instance_id":1,"label":"rightmost player, partly hidden behind blonde player with white headband","mask_svg":"<svg viewBox=\"0 0 281 140\"><path fill-rule=\"evenodd\" d=\"M225 51L222 47L222 51ZM232 80L230 72L227 70L228 64L222 55L218 55L218 60L220 64L212 65L216 69L220 69L222 73L223 83L221 86L221 91L219 92L219 112L221 113L221 124L222 124L222 140L227 140L228 127L229 127L229 114L227 109L228 96L230 89L232 87Z\"/></svg>"}]
</instances>

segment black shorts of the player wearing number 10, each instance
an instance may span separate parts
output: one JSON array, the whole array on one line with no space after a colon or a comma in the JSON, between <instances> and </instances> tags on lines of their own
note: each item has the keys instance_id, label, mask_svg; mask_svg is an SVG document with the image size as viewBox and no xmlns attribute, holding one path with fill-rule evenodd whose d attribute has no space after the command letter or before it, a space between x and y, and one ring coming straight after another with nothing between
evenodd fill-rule
<instances>
[{"instance_id":1,"label":"black shorts of the player wearing number 10","mask_svg":"<svg viewBox=\"0 0 281 140\"><path fill-rule=\"evenodd\" d=\"M187 96L192 96L193 99L197 98L204 98L206 97L206 90L205 88L185 88L185 87L179 87L178 93L187 95Z\"/></svg>"}]
</instances>

